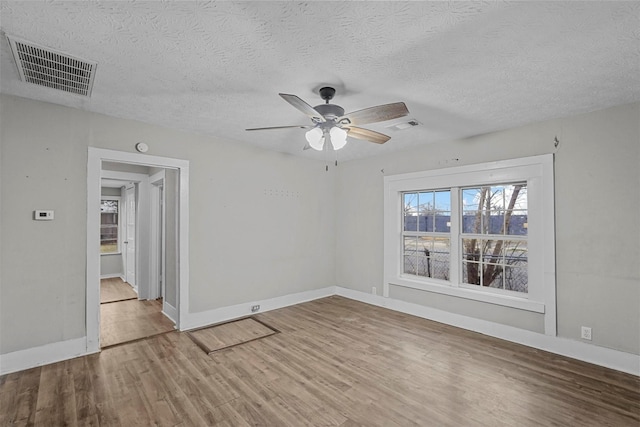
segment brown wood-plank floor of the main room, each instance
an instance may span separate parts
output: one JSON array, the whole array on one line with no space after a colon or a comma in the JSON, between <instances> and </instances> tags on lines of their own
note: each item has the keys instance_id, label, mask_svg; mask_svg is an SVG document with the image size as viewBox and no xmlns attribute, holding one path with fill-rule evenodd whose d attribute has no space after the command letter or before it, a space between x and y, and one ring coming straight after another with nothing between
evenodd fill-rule
<instances>
[{"instance_id":1,"label":"brown wood-plank floor of the main room","mask_svg":"<svg viewBox=\"0 0 640 427\"><path fill-rule=\"evenodd\" d=\"M329 297L205 354L171 332L0 377L0 425L635 426L640 378Z\"/></svg>"}]
</instances>

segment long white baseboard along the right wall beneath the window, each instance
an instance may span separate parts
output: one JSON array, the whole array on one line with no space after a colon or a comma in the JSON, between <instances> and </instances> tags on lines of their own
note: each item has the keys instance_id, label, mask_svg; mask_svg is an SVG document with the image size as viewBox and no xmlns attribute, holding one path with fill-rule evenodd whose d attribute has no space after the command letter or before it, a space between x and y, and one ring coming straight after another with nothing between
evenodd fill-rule
<instances>
[{"instance_id":1,"label":"long white baseboard along the right wall beneath the window","mask_svg":"<svg viewBox=\"0 0 640 427\"><path fill-rule=\"evenodd\" d=\"M336 295L640 376L640 356L336 286Z\"/></svg>"}]
</instances>

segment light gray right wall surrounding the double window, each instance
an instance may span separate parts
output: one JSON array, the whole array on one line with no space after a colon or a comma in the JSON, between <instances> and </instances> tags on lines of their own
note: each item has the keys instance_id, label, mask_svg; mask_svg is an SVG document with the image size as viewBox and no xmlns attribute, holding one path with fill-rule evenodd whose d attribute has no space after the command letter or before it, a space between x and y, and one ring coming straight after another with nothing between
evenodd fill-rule
<instances>
[{"instance_id":1,"label":"light gray right wall surrounding the double window","mask_svg":"<svg viewBox=\"0 0 640 427\"><path fill-rule=\"evenodd\" d=\"M338 285L367 293L382 288L384 175L556 153L558 335L579 340L580 326L590 326L593 344L640 354L639 123L634 104L343 163L336 187ZM543 330L536 313L396 286L390 297Z\"/></svg>"}]
</instances>

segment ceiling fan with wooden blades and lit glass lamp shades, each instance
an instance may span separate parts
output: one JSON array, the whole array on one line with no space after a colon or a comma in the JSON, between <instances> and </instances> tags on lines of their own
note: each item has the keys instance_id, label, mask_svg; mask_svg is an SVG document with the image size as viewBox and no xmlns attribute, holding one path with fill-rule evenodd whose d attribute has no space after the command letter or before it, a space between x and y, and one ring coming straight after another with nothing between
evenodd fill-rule
<instances>
[{"instance_id":1,"label":"ceiling fan with wooden blades and lit glass lamp shades","mask_svg":"<svg viewBox=\"0 0 640 427\"><path fill-rule=\"evenodd\" d=\"M376 144L384 144L390 136L384 135L370 129L361 128L360 125L370 123L384 122L396 119L409 114L409 110L404 102L394 102L392 104L377 105L375 107L365 108L363 110L353 111L344 114L344 108L339 105L329 104L333 99L336 90L332 87L323 87L319 90L320 97L325 101L324 104L312 107L296 95L280 93L279 95L293 105L299 111L307 115L312 124L298 126L273 126L262 128L246 129L254 130L270 130L270 129L310 129L306 133L307 144L304 149L313 148L322 151L325 142L329 141L334 150L339 150L347 144L347 136L362 139Z\"/></svg>"}]
</instances>

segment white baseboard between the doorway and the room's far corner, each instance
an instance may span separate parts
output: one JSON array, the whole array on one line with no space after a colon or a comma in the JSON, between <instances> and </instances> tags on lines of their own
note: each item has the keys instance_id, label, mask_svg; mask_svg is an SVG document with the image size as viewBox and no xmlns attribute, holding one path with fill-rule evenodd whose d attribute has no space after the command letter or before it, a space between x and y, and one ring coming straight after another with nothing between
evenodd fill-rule
<instances>
[{"instance_id":1,"label":"white baseboard between the doorway and the room's far corner","mask_svg":"<svg viewBox=\"0 0 640 427\"><path fill-rule=\"evenodd\" d=\"M252 305L260 305L260 311L258 311L257 313L263 313L265 311L288 307L290 305L300 304L303 302L312 301L335 294L335 286L329 286L322 289L298 292L295 294L283 295L281 297L269 298L261 301L245 302L228 307L216 308L214 310L189 313L187 314L186 319L183 319L180 322L180 330L187 331L190 329L226 322L228 320L233 320L240 317L250 316L251 314L255 314L251 313Z\"/></svg>"}]
</instances>

